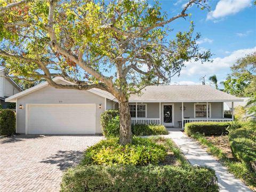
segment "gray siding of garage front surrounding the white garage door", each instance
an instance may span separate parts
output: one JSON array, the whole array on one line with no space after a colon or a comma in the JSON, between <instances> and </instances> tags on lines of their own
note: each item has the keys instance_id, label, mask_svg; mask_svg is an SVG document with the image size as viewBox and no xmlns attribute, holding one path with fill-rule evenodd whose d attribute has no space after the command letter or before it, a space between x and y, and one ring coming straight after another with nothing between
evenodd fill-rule
<instances>
[{"instance_id":1,"label":"gray siding of garage front surrounding the white garage door","mask_svg":"<svg viewBox=\"0 0 256 192\"><path fill-rule=\"evenodd\" d=\"M23 109L17 111L17 133L25 133L26 130L26 104L65 104L65 103L96 103L96 133L101 133L100 114L105 110L105 98L89 91L55 89L46 86L38 91L18 98L17 105ZM99 105L102 105L101 109Z\"/></svg>"}]
</instances>

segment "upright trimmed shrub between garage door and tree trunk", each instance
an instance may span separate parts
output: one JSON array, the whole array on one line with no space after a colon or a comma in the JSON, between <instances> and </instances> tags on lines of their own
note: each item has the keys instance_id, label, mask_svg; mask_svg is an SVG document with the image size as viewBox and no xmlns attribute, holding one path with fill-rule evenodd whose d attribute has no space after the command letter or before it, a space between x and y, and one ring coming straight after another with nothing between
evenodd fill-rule
<instances>
[{"instance_id":1,"label":"upright trimmed shrub between garage door and tree trunk","mask_svg":"<svg viewBox=\"0 0 256 192\"><path fill-rule=\"evenodd\" d=\"M116 116L119 116L118 110L106 110L100 115L101 128L105 137L116 137L119 135L119 119L117 123L117 119L114 119Z\"/></svg>"}]
</instances>

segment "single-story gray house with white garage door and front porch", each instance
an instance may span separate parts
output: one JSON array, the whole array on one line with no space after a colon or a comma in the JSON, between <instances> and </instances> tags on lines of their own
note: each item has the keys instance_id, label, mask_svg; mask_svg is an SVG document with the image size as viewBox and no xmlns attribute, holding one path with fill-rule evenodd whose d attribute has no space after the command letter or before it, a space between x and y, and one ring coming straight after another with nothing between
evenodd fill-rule
<instances>
[{"instance_id":1,"label":"single-story gray house with white garage door and front porch","mask_svg":"<svg viewBox=\"0 0 256 192\"><path fill-rule=\"evenodd\" d=\"M60 77L53 80L71 84ZM24 134L102 133L100 114L118 109L116 99L106 91L55 89L47 82L6 101L17 102L17 133ZM141 96L131 95L129 99L132 123L166 127L194 121L232 121L223 116L223 103L229 101L243 100L209 85L148 86Z\"/></svg>"}]
</instances>

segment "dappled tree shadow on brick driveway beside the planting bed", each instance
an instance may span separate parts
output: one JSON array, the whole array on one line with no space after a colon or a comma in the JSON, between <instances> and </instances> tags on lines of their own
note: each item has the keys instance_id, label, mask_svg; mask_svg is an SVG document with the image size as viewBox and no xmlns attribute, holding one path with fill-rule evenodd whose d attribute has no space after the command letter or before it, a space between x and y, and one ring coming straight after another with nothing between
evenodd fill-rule
<instances>
[{"instance_id":1,"label":"dappled tree shadow on brick driveway beside the planting bed","mask_svg":"<svg viewBox=\"0 0 256 192\"><path fill-rule=\"evenodd\" d=\"M82 151L76 151L76 150L68 150L63 151L59 150L57 154L54 154L50 157L47 157L41 161L41 163L50 163L50 164L56 164L61 171L66 170L70 166L77 165L82 156Z\"/></svg>"}]
</instances>

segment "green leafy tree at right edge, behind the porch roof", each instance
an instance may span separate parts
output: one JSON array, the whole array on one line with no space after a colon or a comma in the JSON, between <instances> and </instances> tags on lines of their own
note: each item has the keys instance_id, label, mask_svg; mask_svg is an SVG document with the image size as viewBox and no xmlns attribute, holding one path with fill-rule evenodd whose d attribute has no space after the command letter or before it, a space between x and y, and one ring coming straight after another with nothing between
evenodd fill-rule
<instances>
[{"instance_id":1,"label":"green leafy tree at right edge, behind the porch roof","mask_svg":"<svg viewBox=\"0 0 256 192\"><path fill-rule=\"evenodd\" d=\"M223 82L224 91L237 97L253 97L256 94L256 52L238 59L231 71Z\"/></svg>"}]
</instances>

